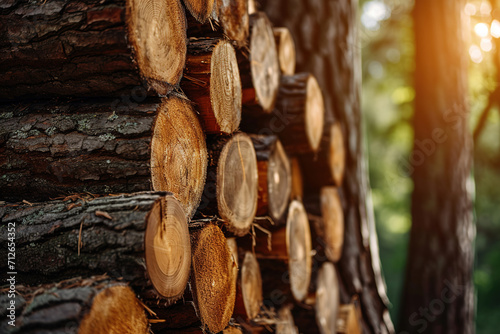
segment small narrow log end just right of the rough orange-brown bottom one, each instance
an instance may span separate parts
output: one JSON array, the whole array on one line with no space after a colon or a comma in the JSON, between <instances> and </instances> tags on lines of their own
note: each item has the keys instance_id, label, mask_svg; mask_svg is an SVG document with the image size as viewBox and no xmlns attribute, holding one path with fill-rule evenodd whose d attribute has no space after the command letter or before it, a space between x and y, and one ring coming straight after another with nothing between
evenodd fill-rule
<instances>
[{"instance_id":1,"label":"small narrow log end just right of the rough orange-brown bottom one","mask_svg":"<svg viewBox=\"0 0 500 334\"><path fill-rule=\"evenodd\" d=\"M245 322L258 316L263 302L262 277L255 254L245 252L240 273L233 318Z\"/></svg>"}]
</instances>

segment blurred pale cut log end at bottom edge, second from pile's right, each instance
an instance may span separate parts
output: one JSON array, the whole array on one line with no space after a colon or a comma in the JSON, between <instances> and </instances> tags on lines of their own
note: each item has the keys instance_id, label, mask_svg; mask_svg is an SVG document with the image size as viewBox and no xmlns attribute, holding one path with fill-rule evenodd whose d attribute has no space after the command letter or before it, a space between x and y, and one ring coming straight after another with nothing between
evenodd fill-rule
<instances>
[{"instance_id":1,"label":"blurred pale cut log end at bottom edge, second from pile's right","mask_svg":"<svg viewBox=\"0 0 500 334\"><path fill-rule=\"evenodd\" d=\"M336 333L339 310L339 287L335 267L325 262L318 272L316 288L316 323L321 333Z\"/></svg>"}]
</instances>

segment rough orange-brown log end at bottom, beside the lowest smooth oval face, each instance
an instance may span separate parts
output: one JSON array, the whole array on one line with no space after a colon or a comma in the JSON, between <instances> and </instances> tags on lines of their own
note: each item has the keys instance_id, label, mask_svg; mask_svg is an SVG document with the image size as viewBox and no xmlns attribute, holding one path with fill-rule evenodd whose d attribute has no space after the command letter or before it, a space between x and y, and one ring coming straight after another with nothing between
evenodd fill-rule
<instances>
[{"instance_id":1,"label":"rough orange-brown log end at bottom, beside the lowest smooth oval face","mask_svg":"<svg viewBox=\"0 0 500 334\"><path fill-rule=\"evenodd\" d=\"M197 314L211 332L222 331L233 314L236 297L235 271L226 238L209 224L192 233L191 288Z\"/></svg>"}]
</instances>

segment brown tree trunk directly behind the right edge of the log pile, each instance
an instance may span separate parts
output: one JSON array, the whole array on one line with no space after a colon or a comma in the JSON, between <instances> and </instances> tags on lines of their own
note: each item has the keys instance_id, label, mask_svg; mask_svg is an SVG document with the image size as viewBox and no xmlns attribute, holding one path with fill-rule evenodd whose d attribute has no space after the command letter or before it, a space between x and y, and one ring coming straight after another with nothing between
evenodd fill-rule
<instances>
[{"instance_id":1,"label":"brown tree trunk directly behind the right edge of the log pile","mask_svg":"<svg viewBox=\"0 0 500 334\"><path fill-rule=\"evenodd\" d=\"M344 298L358 294L368 332L392 332L385 283L381 277L378 242L363 163L360 113L360 47L356 0L262 0L275 26L290 29L297 48L297 72L310 71L323 91L327 113L344 133L346 174L342 193L346 222L339 281ZM306 24L307 22L307 24ZM343 303L350 300L341 300Z\"/></svg>"}]
</instances>

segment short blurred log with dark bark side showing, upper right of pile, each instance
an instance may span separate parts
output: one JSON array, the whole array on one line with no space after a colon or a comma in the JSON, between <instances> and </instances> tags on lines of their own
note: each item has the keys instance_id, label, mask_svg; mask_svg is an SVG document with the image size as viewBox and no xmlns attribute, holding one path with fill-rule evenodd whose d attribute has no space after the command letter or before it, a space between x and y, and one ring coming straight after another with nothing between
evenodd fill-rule
<instances>
[{"instance_id":1,"label":"short blurred log with dark bark side showing, upper right of pile","mask_svg":"<svg viewBox=\"0 0 500 334\"><path fill-rule=\"evenodd\" d=\"M288 154L296 155L318 151L323 124L323 95L318 82L308 73L299 73L281 77L276 108L271 114L244 112L241 128L250 133L278 135Z\"/></svg>"}]
</instances>

